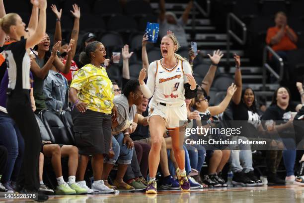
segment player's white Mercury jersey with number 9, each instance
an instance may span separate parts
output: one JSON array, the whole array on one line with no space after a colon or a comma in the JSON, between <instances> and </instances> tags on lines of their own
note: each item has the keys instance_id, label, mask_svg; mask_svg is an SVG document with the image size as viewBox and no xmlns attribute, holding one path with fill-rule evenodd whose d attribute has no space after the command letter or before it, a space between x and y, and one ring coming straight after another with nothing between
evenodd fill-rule
<instances>
[{"instance_id":1,"label":"player's white Mercury jersey with number 9","mask_svg":"<svg viewBox=\"0 0 304 203\"><path fill-rule=\"evenodd\" d=\"M183 61L177 60L172 69L165 68L161 60L156 61L155 88L152 101L168 104L185 102Z\"/></svg>"}]
</instances>

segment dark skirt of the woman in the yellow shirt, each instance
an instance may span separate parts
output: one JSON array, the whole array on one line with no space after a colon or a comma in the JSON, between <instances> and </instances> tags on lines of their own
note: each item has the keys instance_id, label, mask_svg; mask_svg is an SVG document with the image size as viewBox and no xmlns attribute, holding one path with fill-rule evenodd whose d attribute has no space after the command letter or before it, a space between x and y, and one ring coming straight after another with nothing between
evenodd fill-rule
<instances>
[{"instance_id":1,"label":"dark skirt of the woman in the yellow shirt","mask_svg":"<svg viewBox=\"0 0 304 203\"><path fill-rule=\"evenodd\" d=\"M108 154L111 141L111 114L87 109L72 111L75 146L81 155Z\"/></svg>"}]
</instances>

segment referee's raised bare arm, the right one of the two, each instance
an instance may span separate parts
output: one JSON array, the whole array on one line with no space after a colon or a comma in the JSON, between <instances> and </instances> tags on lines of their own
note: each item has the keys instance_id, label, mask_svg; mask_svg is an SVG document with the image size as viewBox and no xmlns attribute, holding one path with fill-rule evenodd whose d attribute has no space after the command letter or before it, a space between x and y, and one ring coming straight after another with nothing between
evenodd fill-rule
<instances>
[{"instance_id":1,"label":"referee's raised bare arm, the right one of the two","mask_svg":"<svg viewBox=\"0 0 304 203\"><path fill-rule=\"evenodd\" d=\"M38 0L39 4L39 20L38 26L35 32L29 36L26 40L25 49L35 46L40 42L43 38L46 30L46 8L47 8L47 1L46 0Z\"/></svg>"}]
</instances>

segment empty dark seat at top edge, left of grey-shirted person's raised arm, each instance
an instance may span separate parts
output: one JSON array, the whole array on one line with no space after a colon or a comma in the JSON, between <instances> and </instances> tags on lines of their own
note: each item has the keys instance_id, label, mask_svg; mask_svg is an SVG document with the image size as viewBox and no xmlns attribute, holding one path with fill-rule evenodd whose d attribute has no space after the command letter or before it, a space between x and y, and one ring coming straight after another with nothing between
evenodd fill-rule
<instances>
[{"instance_id":1,"label":"empty dark seat at top edge, left of grey-shirted person's raised arm","mask_svg":"<svg viewBox=\"0 0 304 203\"><path fill-rule=\"evenodd\" d=\"M146 16L153 13L150 3L144 0L127 1L124 10L127 15L133 16Z\"/></svg>"}]
</instances>

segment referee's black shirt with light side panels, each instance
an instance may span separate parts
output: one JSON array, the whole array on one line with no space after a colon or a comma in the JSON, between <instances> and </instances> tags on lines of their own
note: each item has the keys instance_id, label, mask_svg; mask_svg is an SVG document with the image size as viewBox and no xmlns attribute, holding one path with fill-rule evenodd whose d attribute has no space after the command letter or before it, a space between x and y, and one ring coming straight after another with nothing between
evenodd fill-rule
<instances>
[{"instance_id":1,"label":"referee's black shirt with light side panels","mask_svg":"<svg viewBox=\"0 0 304 203\"><path fill-rule=\"evenodd\" d=\"M26 39L11 43L4 48L11 90L30 90L30 57L25 49Z\"/></svg>"}]
</instances>

